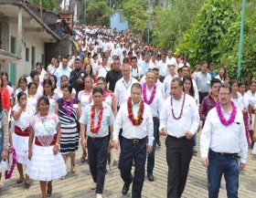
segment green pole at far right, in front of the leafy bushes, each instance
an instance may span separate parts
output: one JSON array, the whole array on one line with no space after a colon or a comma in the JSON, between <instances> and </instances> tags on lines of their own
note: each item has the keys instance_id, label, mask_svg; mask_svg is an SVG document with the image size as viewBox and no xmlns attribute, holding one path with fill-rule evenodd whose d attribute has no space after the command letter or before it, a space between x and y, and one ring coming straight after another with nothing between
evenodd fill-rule
<instances>
[{"instance_id":1,"label":"green pole at far right, in front of the leafy bushes","mask_svg":"<svg viewBox=\"0 0 256 198\"><path fill-rule=\"evenodd\" d=\"M242 0L241 20L240 20L240 50L239 50L239 61L238 61L238 76L237 76L238 80L240 80L241 53L242 53L242 45L243 45L243 26L244 26L244 17L245 17L245 4L246 4L246 0Z\"/></svg>"}]
</instances>

